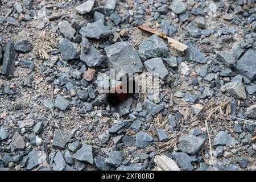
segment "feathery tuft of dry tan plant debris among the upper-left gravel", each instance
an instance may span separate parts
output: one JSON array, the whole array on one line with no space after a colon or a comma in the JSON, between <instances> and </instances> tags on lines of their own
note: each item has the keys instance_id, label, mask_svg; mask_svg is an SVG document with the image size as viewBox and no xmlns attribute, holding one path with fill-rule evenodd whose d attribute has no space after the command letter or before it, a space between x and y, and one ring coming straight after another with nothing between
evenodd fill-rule
<instances>
[{"instance_id":1,"label":"feathery tuft of dry tan plant debris among the upper-left gravel","mask_svg":"<svg viewBox=\"0 0 256 182\"><path fill-rule=\"evenodd\" d=\"M57 44L52 38L47 36L46 31L40 32L38 40L35 42L35 52L40 59L50 59L50 53L57 48Z\"/></svg>"}]
</instances>

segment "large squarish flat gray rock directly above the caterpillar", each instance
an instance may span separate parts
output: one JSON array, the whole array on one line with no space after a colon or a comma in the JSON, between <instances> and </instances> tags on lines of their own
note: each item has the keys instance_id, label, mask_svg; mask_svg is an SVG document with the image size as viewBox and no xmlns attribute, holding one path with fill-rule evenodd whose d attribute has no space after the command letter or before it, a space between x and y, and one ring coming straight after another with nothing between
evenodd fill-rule
<instances>
[{"instance_id":1,"label":"large squarish flat gray rock directly above the caterpillar","mask_svg":"<svg viewBox=\"0 0 256 182\"><path fill-rule=\"evenodd\" d=\"M110 69L115 73L141 73L143 64L135 48L129 42L118 42L105 48Z\"/></svg>"}]
</instances>

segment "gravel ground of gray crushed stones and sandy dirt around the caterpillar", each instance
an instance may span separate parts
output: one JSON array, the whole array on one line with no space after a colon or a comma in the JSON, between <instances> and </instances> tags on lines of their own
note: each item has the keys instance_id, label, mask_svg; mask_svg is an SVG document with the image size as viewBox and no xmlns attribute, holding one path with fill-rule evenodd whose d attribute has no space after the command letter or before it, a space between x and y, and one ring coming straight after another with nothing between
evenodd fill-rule
<instances>
[{"instance_id":1,"label":"gravel ground of gray crushed stones and sandy dirt around the caterpillar","mask_svg":"<svg viewBox=\"0 0 256 182\"><path fill-rule=\"evenodd\" d=\"M255 171L255 31L255 0L2 0L0 170ZM108 104L110 69L159 95Z\"/></svg>"}]
</instances>

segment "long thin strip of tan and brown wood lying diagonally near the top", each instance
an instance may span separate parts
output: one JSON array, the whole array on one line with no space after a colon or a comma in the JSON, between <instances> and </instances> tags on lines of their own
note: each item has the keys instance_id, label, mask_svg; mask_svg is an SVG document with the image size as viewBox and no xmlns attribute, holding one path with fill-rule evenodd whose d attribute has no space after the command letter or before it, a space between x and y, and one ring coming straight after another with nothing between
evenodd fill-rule
<instances>
[{"instance_id":1,"label":"long thin strip of tan and brown wood lying diagonally near the top","mask_svg":"<svg viewBox=\"0 0 256 182\"><path fill-rule=\"evenodd\" d=\"M163 39L167 39L169 45L175 49L177 49L178 51L181 51L181 52L184 52L185 49L188 48L188 46L186 46L185 44L183 43L180 43L178 42L177 40L174 40L166 35L164 35L162 32L158 32L158 31L155 31L154 29L150 28L150 27L147 27L147 26L143 26L143 25L139 25L139 29L141 30L144 30L144 31L147 31L147 32L150 32L152 34L156 34L158 36L160 36L161 38Z\"/></svg>"}]
</instances>

